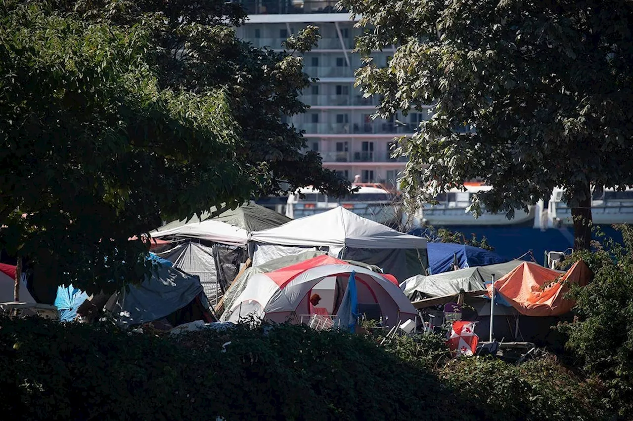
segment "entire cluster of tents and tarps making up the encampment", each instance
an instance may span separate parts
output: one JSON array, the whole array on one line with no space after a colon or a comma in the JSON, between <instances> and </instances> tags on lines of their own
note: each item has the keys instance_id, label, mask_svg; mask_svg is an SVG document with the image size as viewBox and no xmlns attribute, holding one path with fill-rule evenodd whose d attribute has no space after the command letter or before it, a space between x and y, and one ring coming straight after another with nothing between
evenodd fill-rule
<instances>
[{"instance_id":1,"label":"entire cluster of tents and tarps making up the encampment","mask_svg":"<svg viewBox=\"0 0 633 421\"><path fill-rule=\"evenodd\" d=\"M291 220L248 202L150 235L154 270L141 284L96 295L60 286L61 320L105 311L122 326L256 317L348 329L362 318L410 332L459 311L480 334L492 321L495 338L533 339L569 314L568 284L591 277L582 262L560 272L468 245L427 244L344 207ZM15 267L0 265L0 298L11 298L13 278ZM36 302L30 287L23 283L22 298Z\"/></svg>"}]
</instances>

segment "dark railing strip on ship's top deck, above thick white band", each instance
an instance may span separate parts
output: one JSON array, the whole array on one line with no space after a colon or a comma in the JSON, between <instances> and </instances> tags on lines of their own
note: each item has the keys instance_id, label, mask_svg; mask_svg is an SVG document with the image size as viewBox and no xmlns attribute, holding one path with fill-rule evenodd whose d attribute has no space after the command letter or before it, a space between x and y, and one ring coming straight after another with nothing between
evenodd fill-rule
<instances>
[{"instance_id":1,"label":"dark railing strip on ship's top deck, above thick white band","mask_svg":"<svg viewBox=\"0 0 633 421\"><path fill-rule=\"evenodd\" d=\"M337 0L235 0L249 15L294 15L296 13L347 13L337 9Z\"/></svg>"}]
</instances>

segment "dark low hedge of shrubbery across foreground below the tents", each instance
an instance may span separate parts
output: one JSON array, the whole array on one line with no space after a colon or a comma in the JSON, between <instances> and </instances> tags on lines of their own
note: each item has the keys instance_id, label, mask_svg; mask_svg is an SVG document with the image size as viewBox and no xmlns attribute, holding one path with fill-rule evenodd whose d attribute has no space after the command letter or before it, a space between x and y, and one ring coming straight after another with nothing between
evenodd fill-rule
<instances>
[{"instance_id":1,"label":"dark low hedge of shrubbery across foreground below the tents","mask_svg":"<svg viewBox=\"0 0 633 421\"><path fill-rule=\"evenodd\" d=\"M450 360L434 336L380 346L287 325L168 337L40 319L0 326L0 411L23 420L606 417L601 389L553 358Z\"/></svg>"}]
</instances>

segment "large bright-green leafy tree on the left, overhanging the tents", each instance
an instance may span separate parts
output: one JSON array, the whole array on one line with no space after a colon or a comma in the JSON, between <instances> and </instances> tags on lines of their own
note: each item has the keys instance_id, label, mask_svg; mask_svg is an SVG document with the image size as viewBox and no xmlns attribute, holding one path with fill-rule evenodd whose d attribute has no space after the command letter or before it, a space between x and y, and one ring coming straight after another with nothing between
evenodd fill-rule
<instances>
[{"instance_id":1,"label":"large bright-green leafy tree on the left, overhanging the tents","mask_svg":"<svg viewBox=\"0 0 633 421\"><path fill-rule=\"evenodd\" d=\"M133 4L106 6L116 15ZM287 166L244 152L256 136L237 121L243 114L231 99L235 86L165 83L159 15L113 25L60 4L8 1L0 8L0 247L27 257L52 283L95 293L141 281L151 265L143 233L161 219L235 207L254 192L275 190L273 178L282 174L276 165L304 159L295 180L312 171L306 178L344 190L329 173L313 171L318 159L296 150ZM214 30L230 34L225 25ZM251 63L253 73L260 64ZM268 78L287 77L271 72ZM291 102L290 93L279 95ZM267 127L260 133L272 136L279 126ZM296 149L301 140L297 133L296 143L285 143L285 133L277 134L260 137L261 147ZM139 239L128 241L134 235Z\"/></svg>"}]
</instances>

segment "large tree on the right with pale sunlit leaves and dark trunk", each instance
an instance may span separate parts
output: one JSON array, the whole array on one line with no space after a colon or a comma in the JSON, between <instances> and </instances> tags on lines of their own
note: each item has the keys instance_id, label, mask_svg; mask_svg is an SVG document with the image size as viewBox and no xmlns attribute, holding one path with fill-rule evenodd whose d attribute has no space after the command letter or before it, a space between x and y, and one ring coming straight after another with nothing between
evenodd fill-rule
<instances>
[{"instance_id":1,"label":"large tree on the right with pale sunlit leaves and dark trunk","mask_svg":"<svg viewBox=\"0 0 633 421\"><path fill-rule=\"evenodd\" d=\"M591 187L633 184L633 3L435 2L384 8L342 2L361 16L360 51L398 46L388 66L369 62L358 83L387 116L432 104L403 139L403 188L418 202L481 177L482 207L549 199L555 186L575 217L575 247L591 238Z\"/></svg>"}]
</instances>

